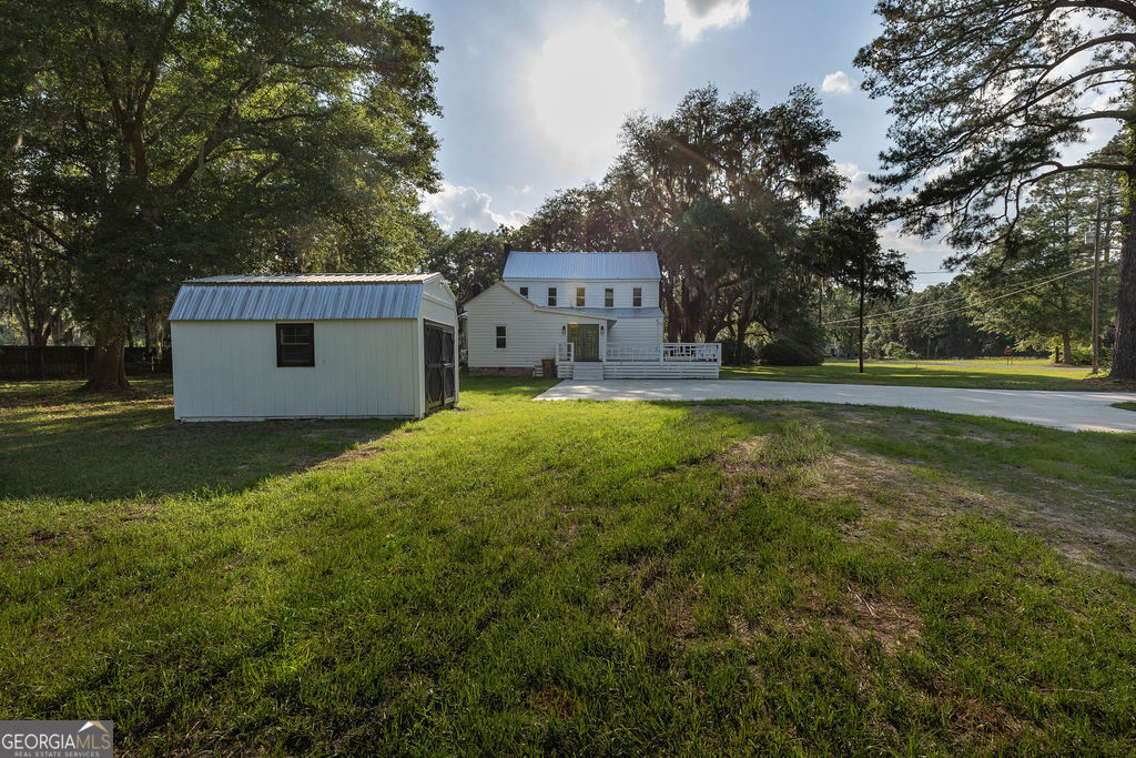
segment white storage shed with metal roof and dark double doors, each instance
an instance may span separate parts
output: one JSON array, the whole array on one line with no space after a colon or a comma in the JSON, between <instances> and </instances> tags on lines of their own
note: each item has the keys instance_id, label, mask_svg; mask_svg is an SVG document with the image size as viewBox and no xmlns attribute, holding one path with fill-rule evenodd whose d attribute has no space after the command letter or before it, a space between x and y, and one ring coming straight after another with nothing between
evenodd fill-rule
<instances>
[{"instance_id":1,"label":"white storage shed with metal roof and dark double doors","mask_svg":"<svg viewBox=\"0 0 1136 758\"><path fill-rule=\"evenodd\" d=\"M174 417L421 418L458 400L441 274L214 276L169 313Z\"/></svg>"}]
</instances>

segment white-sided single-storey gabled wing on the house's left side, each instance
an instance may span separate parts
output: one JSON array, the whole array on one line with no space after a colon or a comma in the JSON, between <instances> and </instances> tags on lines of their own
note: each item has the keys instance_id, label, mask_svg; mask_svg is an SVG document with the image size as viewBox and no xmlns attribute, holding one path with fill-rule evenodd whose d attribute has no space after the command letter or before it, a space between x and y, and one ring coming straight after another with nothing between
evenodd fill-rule
<instances>
[{"instance_id":1,"label":"white-sided single-storey gabled wing on the house's left side","mask_svg":"<svg viewBox=\"0 0 1136 758\"><path fill-rule=\"evenodd\" d=\"M466 305L466 345L470 368L532 367L553 358L568 323L607 324L605 319L534 310L504 288L490 288ZM506 348L496 347L496 327L506 327ZM603 340L601 339L601 343Z\"/></svg>"}]
</instances>

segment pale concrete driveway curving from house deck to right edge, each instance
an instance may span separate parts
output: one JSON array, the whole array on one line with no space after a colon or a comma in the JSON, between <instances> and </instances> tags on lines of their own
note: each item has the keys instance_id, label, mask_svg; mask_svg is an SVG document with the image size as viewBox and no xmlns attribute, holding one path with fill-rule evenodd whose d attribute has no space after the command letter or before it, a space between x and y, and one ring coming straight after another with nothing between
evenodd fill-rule
<instances>
[{"instance_id":1,"label":"pale concrete driveway curving from house deck to right edge","mask_svg":"<svg viewBox=\"0 0 1136 758\"><path fill-rule=\"evenodd\" d=\"M536 400L794 400L996 416L1081 432L1136 432L1136 413L1112 407L1114 402L1136 400L1136 395L1127 392L963 390L760 380L567 380L537 395Z\"/></svg>"}]
</instances>

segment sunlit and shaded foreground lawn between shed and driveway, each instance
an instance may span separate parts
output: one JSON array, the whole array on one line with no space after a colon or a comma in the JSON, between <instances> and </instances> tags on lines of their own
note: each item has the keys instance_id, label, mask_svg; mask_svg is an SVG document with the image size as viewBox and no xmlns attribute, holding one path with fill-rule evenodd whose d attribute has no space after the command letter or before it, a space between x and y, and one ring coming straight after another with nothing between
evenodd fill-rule
<instances>
[{"instance_id":1,"label":"sunlit and shaded foreground lawn between shed and driveway","mask_svg":"<svg viewBox=\"0 0 1136 758\"><path fill-rule=\"evenodd\" d=\"M802 403L177 425L0 385L0 718L120 753L1136 750L1136 435Z\"/></svg>"}]
</instances>

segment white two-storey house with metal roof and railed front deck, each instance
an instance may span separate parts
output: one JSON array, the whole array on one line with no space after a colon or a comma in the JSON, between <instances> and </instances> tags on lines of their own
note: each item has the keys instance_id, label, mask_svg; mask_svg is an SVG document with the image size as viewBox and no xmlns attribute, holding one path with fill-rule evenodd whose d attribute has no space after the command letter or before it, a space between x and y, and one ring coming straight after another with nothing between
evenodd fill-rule
<instances>
[{"instance_id":1,"label":"white two-storey house with metal roof and railed front deck","mask_svg":"<svg viewBox=\"0 0 1136 758\"><path fill-rule=\"evenodd\" d=\"M663 342L654 252L510 252L501 281L465 305L470 374L717 377L718 343Z\"/></svg>"}]
</instances>

